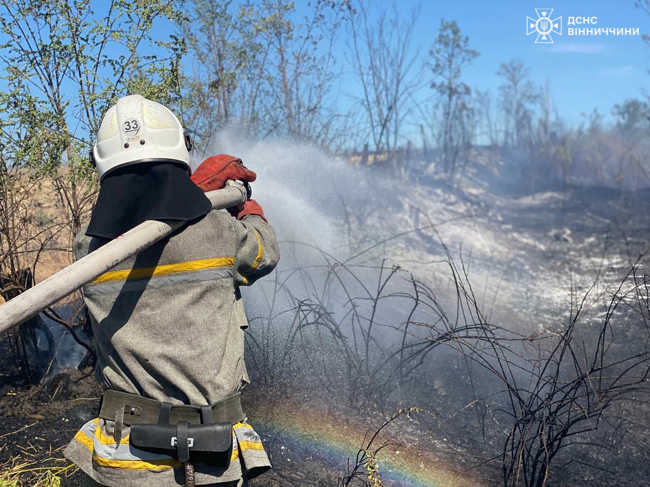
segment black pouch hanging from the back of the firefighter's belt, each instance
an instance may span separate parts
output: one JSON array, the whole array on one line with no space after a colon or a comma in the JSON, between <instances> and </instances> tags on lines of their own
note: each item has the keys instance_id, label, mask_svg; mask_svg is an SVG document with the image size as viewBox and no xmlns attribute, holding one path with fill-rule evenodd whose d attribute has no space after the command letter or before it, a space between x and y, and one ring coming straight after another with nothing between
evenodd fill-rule
<instances>
[{"instance_id":1,"label":"black pouch hanging from the back of the firefighter's belt","mask_svg":"<svg viewBox=\"0 0 650 487\"><path fill-rule=\"evenodd\" d=\"M211 410L210 414L201 411L200 425L190 425L188 421L170 425L168 409L168 405L162 406L158 424L132 425L129 443L144 451L178 458L183 463L200 462L227 469L233 450L233 425L211 422Z\"/></svg>"}]
</instances>

